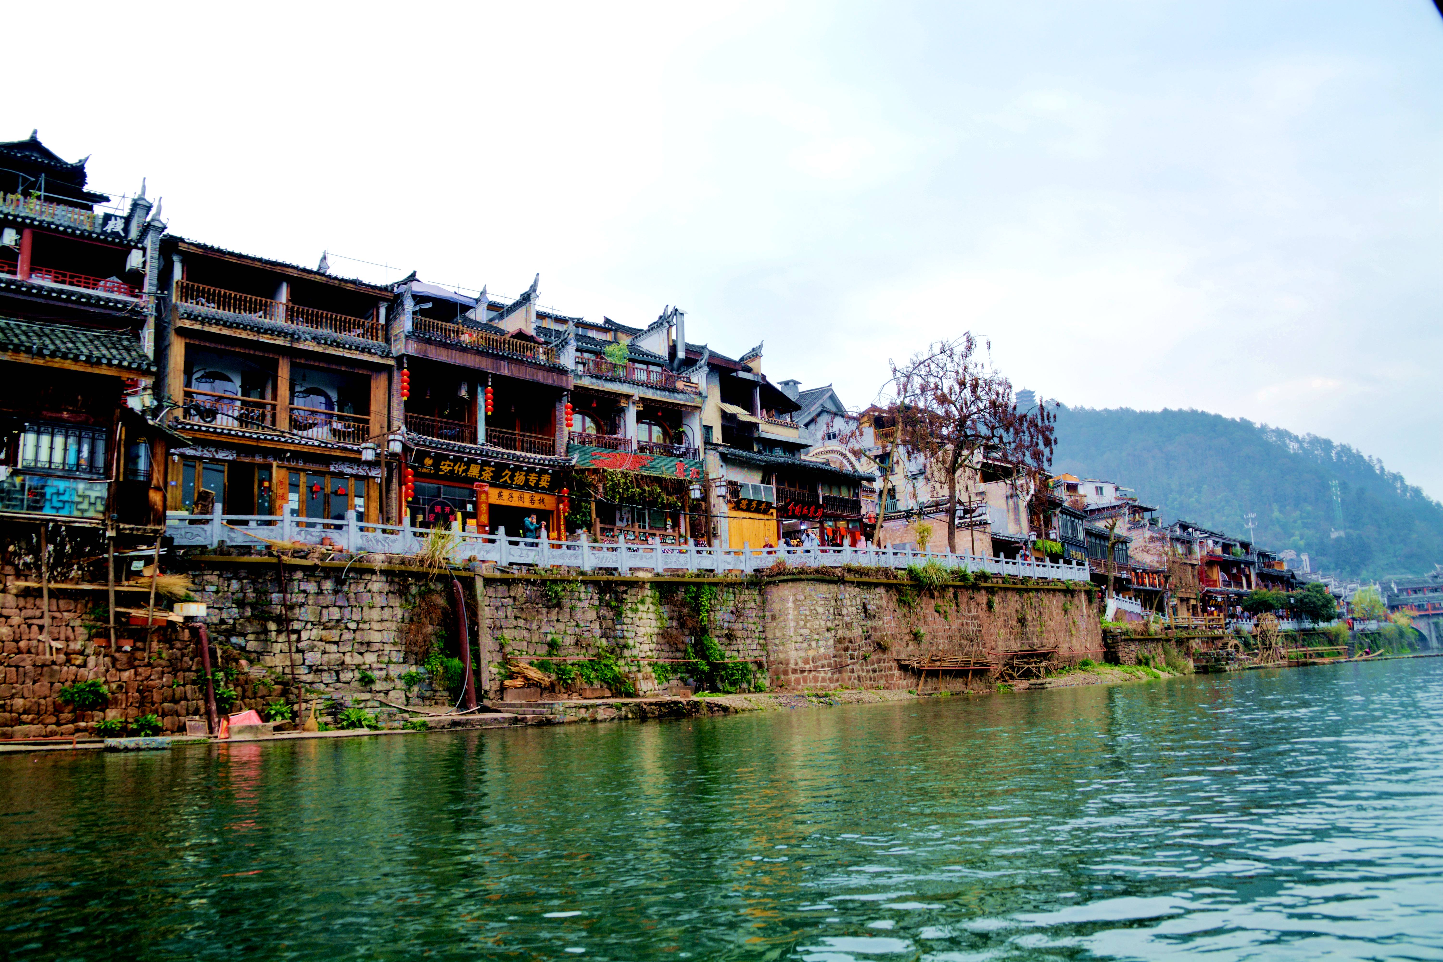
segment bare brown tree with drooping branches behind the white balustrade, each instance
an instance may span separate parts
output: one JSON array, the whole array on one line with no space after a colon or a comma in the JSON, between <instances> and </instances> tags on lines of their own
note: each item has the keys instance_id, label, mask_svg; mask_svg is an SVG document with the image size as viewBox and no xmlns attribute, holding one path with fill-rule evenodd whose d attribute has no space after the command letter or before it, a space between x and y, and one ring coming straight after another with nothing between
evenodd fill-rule
<instances>
[{"instance_id":1,"label":"bare brown tree with drooping branches behind the white balustrade","mask_svg":"<svg viewBox=\"0 0 1443 962\"><path fill-rule=\"evenodd\" d=\"M906 363L892 362L895 401L889 412L902 449L915 451L935 483L947 485L947 550L957 551L957 482L983 457L1010 469L1013 490L1036 490L1052 464L1056 415L1038 405L1019 411L1012 382L991 366L991 345L971 332L939 340Z\"/></svg>"}]
</instances>

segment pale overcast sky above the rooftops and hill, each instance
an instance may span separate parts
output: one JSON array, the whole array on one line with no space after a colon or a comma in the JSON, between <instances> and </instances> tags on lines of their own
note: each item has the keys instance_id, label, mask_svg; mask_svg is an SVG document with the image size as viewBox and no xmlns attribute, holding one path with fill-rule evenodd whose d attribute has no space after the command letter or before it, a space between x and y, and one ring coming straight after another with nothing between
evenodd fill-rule
<instances>
[{"instance_id":1,"label":"pale overcast sky above the rooftops and hill","mask_svg":"<svg viewBox=\"0 0 1443 962\"><path fill-rule=\"evenodd\" d=\"M33 95L0 136L149 177L177 234L512 296L540 271L544 304L632 325L678 304L854 407L971 329L1017 387L1323 434L1443 498L1429 0L68 19L63 53L7 50Z\"/></svg>"}]
</instances>

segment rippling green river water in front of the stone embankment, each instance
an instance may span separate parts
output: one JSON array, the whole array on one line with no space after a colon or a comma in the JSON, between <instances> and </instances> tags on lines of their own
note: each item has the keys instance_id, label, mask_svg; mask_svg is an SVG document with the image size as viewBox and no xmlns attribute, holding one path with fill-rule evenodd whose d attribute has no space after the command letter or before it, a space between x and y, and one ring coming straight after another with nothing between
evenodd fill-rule
<instances>
[{"instance_id":1,"label":"rippling green river water in front of the stone embankment","mask_svg":"<svg viewBox=\"0 0 1443 962\"><path fill-rule=\"evenodd\" d=\"M1443 959L1443 661L0 757L0 959Z\"/></svg>"}]
</instances>

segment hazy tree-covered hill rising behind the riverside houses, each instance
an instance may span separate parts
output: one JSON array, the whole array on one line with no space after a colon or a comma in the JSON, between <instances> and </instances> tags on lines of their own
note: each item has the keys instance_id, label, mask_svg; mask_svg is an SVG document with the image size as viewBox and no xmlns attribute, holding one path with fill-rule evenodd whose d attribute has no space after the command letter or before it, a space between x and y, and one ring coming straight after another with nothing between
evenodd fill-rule
<instances>
[{"instance_id":1,"label":"hazy tree-covered hill rising behind the riverside houses","mask_svg":"<svg viewBox=\"0 0 1443 962\"><path fill-rule=\"evenodd\" d=\"M1245 537L1242 515L1257 512L1258 544L1306 551L1315 570L1382 577L1443 562L1443 505L1381 462L1312 434L1203 411L1062 407L1053 469L1133 487L1165 522Z\"/></svg>"}]
</instances>

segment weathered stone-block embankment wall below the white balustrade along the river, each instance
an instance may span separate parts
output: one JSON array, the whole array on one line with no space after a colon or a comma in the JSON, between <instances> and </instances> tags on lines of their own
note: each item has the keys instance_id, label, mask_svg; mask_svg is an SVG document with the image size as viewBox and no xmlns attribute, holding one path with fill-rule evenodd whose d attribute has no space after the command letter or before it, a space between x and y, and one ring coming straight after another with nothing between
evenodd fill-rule
<instances>
[{"instance_id":1,"label":"weathered stone-block embankment wall below the white balustrade along the river","mask_svg":"<svg viewBox=\"0 0 1443 962\"><path fill-rule=\"evenodd\" d=\"M420 662L459 655L450 575L388 565L260 558L193 560L206 625L231 711L296 701L297 687L328 711L449 704ZM478 694L499 698L506 656L609 655L646 694L667 678L730 666L733 682L772 689L981 688L987 672L929 672L900 661L1056 649L1062 661L1101 656L1088 591L1055 586L919 586L831 575L739 578L457 577L468 636L486 665ZM203 678L193 629L124 626L108 645L105 594L55 587L51 643L40 639L39 590L6 568L0 594L0 738L87 733L102 717L154 712L167 731L202 718ZM703 659L706 663L703 663ZM56 695L76 679L111 688L102 712L74 712ZM199 682L199 684L198 684Z\"/></svg>"}]
</instances>

